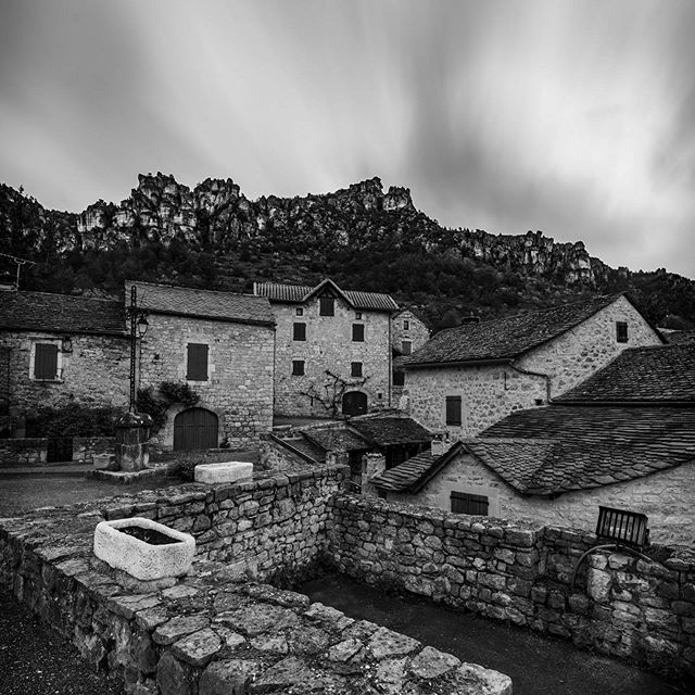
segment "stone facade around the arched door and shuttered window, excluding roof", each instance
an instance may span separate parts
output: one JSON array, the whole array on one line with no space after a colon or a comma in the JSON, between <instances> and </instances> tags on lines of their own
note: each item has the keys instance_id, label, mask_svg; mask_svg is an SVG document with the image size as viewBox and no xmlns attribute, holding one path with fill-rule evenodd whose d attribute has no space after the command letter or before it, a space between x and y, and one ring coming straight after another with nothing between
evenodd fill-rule
<instances>
[{"instance_id":1,"label":"stone facade around the arched door and shuttered window, excluding roof","mask_svg":"<svg viewBox=\"0 0 695 695\"><path fill-rule=\"evenodd\" d=\"M208 348L207 380L187 381L200 396L198 407L218 417L218 443L232 448L257 443L273 426L273 328L192 317L148 315L150 327L140 350L140 386L187 379L187 345ZM174 419L185 406L169 408L153 444L170 450Z\"/></svg>"}]
</instances>

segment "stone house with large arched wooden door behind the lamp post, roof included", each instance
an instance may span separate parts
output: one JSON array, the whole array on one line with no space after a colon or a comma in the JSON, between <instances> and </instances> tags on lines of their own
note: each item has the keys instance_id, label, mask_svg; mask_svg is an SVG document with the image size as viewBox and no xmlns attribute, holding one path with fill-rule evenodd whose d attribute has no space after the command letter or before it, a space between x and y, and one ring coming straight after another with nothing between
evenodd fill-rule
<instances>
[{"instance_id":1,"label":"stone house with large arched wooden door behind the lamp post, roof included","mask_svg":"<svg viewBox=\"0 0 695 695\"><path fill-rule=\"evenodd\" d=\"M199 396L173 403L156 443L165 450L241 447L273 426L275 319L268 300L148 282L137 288L149 329L141 341L139 384L188 384Z\"/></svg>"}]
</instances>

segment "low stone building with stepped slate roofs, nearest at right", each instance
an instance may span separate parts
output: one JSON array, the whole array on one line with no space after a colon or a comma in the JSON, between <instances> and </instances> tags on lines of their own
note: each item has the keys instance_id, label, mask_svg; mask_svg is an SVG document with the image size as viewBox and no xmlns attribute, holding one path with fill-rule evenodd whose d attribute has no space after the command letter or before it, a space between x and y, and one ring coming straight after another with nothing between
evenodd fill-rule
<instances>
[{"instance_id":1,"label":"low stone building with stepped slate roofs, nearest at right","mask_svg":"<svg viewBox=\"0 0 695 695\"><path fill-rule=\"evenodd\" d=\"M434 442L382 476L390 501L593 530L598 505L695 540L695 345L636 348L546 407Z\"/></svg>"}]
</instances>

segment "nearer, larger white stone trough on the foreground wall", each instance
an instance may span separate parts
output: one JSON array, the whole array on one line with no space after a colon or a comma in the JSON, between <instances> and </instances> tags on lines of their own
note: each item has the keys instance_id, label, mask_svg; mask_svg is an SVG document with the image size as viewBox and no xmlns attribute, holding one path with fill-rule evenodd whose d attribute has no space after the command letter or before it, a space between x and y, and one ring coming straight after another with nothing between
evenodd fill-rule
<instances>
[{"instance_id":1,"label":"nearer, larger white stone trough on the foreground wall","mask_svg":"<svg viewBox=\"0 0 695 695\"><path fill-rule=\"evenodd\" d=\"M155 545L121 531L125 528L141 529L144 533L157 532L169 538L170 542ZM181 577L193 561L195 539L143 517L101 521L94 530L94 555L111 567L143 581Z\"/></svg>"}]
</instances>

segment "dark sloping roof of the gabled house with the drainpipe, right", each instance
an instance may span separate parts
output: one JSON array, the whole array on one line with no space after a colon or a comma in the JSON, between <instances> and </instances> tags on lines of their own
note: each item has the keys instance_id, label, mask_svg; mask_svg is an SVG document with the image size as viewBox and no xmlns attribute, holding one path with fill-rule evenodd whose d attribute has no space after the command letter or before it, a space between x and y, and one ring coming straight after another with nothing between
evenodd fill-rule
<instances>
[{"instance_id":1,"label":"dark sloping roof of the gabled house with the drainpipe, right","mask_svg":"<svg viewBox=\"0 0 695 695\"><path fill-rule=\"evenodd\" d=\"M595 296L542 312L464 324L437 333L405 365L511 359L552 340L612 304L621 294Z\"/></svg>"}]
</instances>

